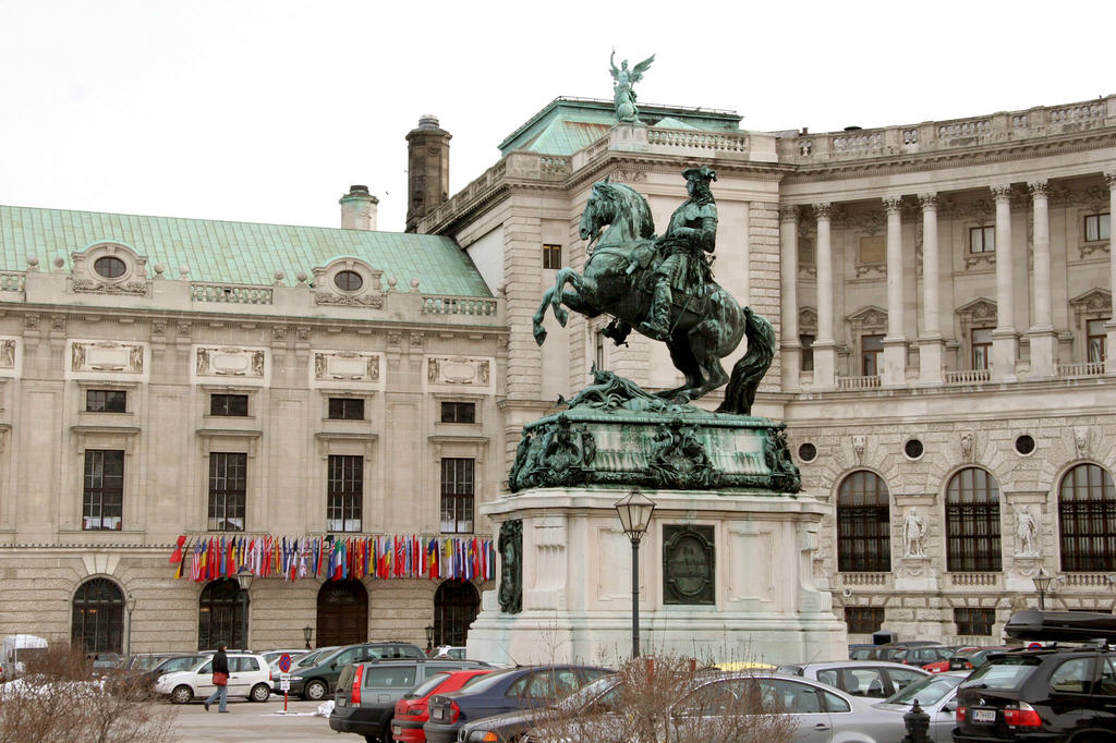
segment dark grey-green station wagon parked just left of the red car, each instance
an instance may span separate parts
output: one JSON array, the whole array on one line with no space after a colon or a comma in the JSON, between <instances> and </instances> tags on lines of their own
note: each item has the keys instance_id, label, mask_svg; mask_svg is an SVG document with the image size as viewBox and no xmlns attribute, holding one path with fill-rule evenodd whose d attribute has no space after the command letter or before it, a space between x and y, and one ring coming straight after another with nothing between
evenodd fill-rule
<instances>
[{"instance_id":1,"label":"dark grey-green station wagon parked just left of the red car","mask_svg":"<svg viewBox=\"0 0 1116 743\"><path fill-rule=\"evenodd\" d=\"M408 660L366 660L341 669L334 692L329 728L338 733L359 733L367 740L389 743L395 703L404 694L442 672L484 668L473 660L430 658Z\"/></svg>"}]
</instances>

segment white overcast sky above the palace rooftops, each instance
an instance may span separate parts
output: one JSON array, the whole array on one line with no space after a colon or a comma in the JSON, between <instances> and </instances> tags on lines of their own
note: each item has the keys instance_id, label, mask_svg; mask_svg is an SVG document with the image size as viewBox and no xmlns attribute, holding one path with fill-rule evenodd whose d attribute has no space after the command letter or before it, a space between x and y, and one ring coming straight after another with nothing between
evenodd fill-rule
<instances>
[{"instance_id":1,"label":"white overcast sky above the palace rooftops","mask_svg":"<svg viewBox=\"0 0 1116 743\"><path fill-rule=\"evenodd\" d=\"M557 96L744 128L865 128L1116 93L1114 6L0 0L0 204L320 226L350 184L406 211L404 136L453 135L451 193Z\"/></svg>"}]
</instances>

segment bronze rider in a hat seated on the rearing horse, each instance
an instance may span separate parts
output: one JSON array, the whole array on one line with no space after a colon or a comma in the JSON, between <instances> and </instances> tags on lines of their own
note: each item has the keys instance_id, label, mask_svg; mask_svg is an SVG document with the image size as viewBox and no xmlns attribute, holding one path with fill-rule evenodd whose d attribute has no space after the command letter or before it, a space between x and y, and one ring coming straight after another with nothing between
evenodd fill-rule
<instances>
[{"instance_id":1,"label":"bronze rider in a hat seated on the rearing horse","mask_svg":"<svg viewBox=\"0 0 1116 743\"><path fill-rule=\"evenodd\" d=\"M663 260L654 270L650 317L639 324L641 332L658 340L671 336L673 291L701 298L713 278L705 253L712 253L716 247L716 204L709 186L710 181L716 180L716 173L702 165L686 168L682 175L690 199L674 210L666 233L657 241Z\"/></svg>"}]
</instances>

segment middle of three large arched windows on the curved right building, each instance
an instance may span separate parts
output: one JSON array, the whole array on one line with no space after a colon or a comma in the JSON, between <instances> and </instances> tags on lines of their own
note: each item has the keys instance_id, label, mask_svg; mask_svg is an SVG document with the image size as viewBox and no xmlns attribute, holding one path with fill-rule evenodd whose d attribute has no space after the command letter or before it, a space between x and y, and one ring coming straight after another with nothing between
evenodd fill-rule
<instances>
[{"instance_id":1,"label":"middle of three large arched windows on the curved right building","mask_svg":"<svg viewBox=\"0 0 1116 743\"><path fill-rule=\"evenodd\" d=\"M999 572L1000 486L965 467L945 486L945 565L950 572Z\"/></svg>"}]
</instances>

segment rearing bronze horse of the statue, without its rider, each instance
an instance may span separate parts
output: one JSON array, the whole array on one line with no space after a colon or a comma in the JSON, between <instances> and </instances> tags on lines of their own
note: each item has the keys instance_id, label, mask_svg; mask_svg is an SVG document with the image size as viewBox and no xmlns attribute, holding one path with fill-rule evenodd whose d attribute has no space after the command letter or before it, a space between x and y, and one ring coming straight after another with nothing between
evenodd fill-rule
<instances>
[{"instance_id":1,"label":"rearing bronze horse of the statue, without its rider","mask_svg":"<svg viewBox=\"0 0 1116 743\"><path fill-rule=\"evenodd\" d=\"M605 225L608 228L603 230ZM607 178L593 184L580 224L581 239L591 251L585 271L558 271L555 286L543 292L532 318L536 341L542 345L546 340L542 318L548 307L562 327L569 317L567 307L590 318L612 315L604 334L616 345L646 321L653 286L648 280L661 260L654 229L647 201L637 191ZM721 359L735 350L745 334L748 353L737 361L730 379ZM766 319L751 308L741 308L728 291L710 281L702 296L675 293L665 342L685 384L658 393L661 397L685 404L728 383L724 403L716 412L751 414L756 388L775 353L775 331Z\"/></svg>"}]
</instances>

